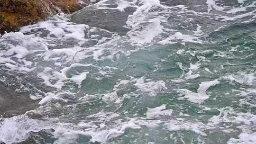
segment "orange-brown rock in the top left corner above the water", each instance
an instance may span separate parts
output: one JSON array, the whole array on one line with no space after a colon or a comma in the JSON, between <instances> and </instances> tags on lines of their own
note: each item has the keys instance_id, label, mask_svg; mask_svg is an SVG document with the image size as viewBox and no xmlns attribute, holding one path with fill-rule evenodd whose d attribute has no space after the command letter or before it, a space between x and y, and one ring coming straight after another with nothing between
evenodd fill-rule
<instances>
[{"instance_id":1,"label":"orange-brown rock in the top left corner above the water","mask_svg":"<svg viewBox=\"0 0 256 144\"><path fill-rule=\"evenodd\" d=\"M90 0L1 0L0 34L60 12L72 13L88 4Z\"/></svg>"}]
</instances>

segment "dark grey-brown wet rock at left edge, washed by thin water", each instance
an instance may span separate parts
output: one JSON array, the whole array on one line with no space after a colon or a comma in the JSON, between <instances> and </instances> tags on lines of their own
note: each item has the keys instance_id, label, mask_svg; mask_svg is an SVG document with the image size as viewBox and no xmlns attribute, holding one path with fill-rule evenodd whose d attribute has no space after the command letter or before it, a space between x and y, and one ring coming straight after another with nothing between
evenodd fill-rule
<instances>
[{"instance_id":1,"label":"dark grey-brown wet rock at left edge, washed by thin water","mask_svg":"<svg viewBox=\"0 0 256 144\"><path fill-rule=\"evenodd\" d=\"M11 72L5 68L0 70L0 116L13 117L25 114L29 110L38 108L40 99L33 100L30 95L43 95L44 93L26 82L29 78L23 74ZM40 83L35 83L40 87ZM38 88L39 88L38 87ZM42 85L42 87L44 87ZM51 90L47 89L46 90Z\"/></svg>"}]
</instances>

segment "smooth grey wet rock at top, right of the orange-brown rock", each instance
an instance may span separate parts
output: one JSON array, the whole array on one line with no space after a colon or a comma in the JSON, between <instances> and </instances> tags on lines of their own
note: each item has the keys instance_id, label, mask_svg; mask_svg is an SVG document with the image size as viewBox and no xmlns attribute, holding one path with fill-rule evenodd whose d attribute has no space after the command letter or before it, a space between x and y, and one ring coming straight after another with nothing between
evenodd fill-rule
<instances>
[{"instance_id":1,"label":"smooth grey wet rock at top, right of the orange-brown rock","mask_svg":"<svg viewBox=\"0 0 256 144\"><path fill-rule=\"evenodd\" d=\"M129 29L123 26L126 25L128 15L133 14L135 10L136 8L133 7L120 11L118 9L96 9L94 6L90 6L73 13L71 21L76 24L86 24L125 35Z\"/></svg>"}]
</instances>

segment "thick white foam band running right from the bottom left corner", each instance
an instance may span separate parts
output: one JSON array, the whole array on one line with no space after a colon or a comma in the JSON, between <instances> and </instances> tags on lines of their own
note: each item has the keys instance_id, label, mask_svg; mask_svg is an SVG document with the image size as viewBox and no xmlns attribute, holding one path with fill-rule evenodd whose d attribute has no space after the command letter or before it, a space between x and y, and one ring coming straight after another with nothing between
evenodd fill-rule
<instances>
[{"instance_id":1,"label":"thick white foam band running right from the bottom left corner","mask_svg":"<svg viewBox=\"0 0 256 144\"><path fill-rule=\"evenodd\" d=\"M82 125L84 126L84 125ZM39 120L29 119L23 116L20 117L12 117L9 119L5 119L3 121L3 125L0 127L0 142L4 142L6 144L13 144L25 141L30 132L38 132L43 129L55 129L53 135L58 139L54 144L67 144L66 141L70 140L70 144L78 138L78 135L91 136L91 142L105 142L108 139L113 137L120 136L124 134L125 129L140 128L133 121L129 121L127 123L121 123L119 126L116 126L109 130L89 130L89 131L78 131L66 129L63 126L44 126L44 124Z\"/></svg>"}]
</instances>

